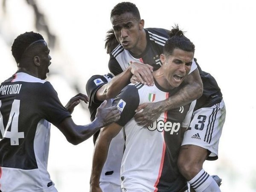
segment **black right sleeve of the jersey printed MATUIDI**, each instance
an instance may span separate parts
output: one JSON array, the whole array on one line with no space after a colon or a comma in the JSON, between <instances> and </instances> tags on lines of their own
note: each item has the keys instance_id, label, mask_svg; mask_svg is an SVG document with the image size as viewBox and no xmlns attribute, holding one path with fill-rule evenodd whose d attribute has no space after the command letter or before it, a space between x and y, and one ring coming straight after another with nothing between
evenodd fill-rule
<instances>
[{"instance_id":1,"label":"black right sleeve of the jersey printed MATUIDI","mask_svg":"<svg viewBox=\"0 0 256 192\"><path fill-rule=\"evenodd\" d=\"M58 94L48 81L38 89L38 108L41 116L53 125L59 125L65 118L70 117L70 112L61 104Z\"/></svg>"}]
</instances>

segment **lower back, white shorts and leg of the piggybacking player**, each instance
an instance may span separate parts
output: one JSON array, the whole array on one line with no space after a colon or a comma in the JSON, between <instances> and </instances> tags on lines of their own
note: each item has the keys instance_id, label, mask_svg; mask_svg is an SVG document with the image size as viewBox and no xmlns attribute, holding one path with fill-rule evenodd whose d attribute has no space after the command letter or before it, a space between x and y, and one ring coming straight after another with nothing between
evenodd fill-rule
<instances>
[{"instance_id":1,"label":"lower back, white shorts and leg of the piggybacking player","mask_svg":"<svg viewBox=\"0 0 256 192\"><path fill-rule=\"evenodd\" d=\"M210 177L204 171L203 163L205 160L218 159L218 143L225 122L226 108L215 79L199 66L198 69L204 92L196 102L193 118L184 134L178 166L195 192L220 192L221 179L218 176Z\"/></svg>"}]
</instances>

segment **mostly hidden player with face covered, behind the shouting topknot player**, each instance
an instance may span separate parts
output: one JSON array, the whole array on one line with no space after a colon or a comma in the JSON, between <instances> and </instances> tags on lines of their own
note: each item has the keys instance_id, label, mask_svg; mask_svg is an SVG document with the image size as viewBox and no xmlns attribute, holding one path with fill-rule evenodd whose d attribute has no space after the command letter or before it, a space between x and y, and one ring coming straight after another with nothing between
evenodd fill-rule
<instances>
[{"instance_id":1,"label":"mostly hidden player with face covered, behind the shouting topknot player","mask_svg":"<svg viewBox=\"0 0 256 192\"><path fill-rule=\"evenodd\" d=\"M151 73L152 67L148 64L144 66L145 73ZM137 74L138 69L136 65L130 65L128 70L125 70L118 76L108 73L104 76L95 75L92 76L86 84L86 91L90 98L88 105L91 121L95 119L96 110L104 100L108 100L108 104L111 105L113 99L117 94L125 87L130 81L133 74ZM99 131L93 135L93 143L96 143ZM100 176L100 188L103 192L121 192L120 183L120 167L124 149L124 137L122 131L116 135L111 141L111 145L108 150L108 159L106 160L102 174Z\"/></svg>"}]
</instances>

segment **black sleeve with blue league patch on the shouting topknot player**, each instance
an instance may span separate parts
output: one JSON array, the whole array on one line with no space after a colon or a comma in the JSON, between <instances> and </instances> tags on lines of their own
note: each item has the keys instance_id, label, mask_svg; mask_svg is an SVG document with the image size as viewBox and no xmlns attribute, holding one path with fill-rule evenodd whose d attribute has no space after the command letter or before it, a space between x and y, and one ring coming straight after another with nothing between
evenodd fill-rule
<instances>
[{"instance_id":1,"label":"black sleeve with blue league patch on the shouting topknot player","mask_svg":"<svg viewBox=\"0 0 256 192\"><path fill-rule=\"evenodd\" d=\"M135 110L140 103L140 96L137 88L134 85L127 85L116 99L114 99L112 105L117 106L121 111L121 117L116 122L118 125L124 126L135 115Z\"/></svg>"}]
</instances>

